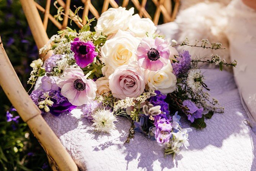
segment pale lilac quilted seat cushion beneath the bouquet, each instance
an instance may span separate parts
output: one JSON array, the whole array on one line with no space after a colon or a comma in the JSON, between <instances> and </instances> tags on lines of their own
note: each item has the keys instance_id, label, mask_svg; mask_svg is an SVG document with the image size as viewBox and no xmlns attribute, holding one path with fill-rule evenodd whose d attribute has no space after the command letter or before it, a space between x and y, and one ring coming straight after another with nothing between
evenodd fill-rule
<instances>
[{"instance_id":1,"label":"pale lilac quilted seat cushion beneath the bouquet","mask_svg":"<svg viewBox=\"0 0 256 171\"><path fill-rule=\"evenodd\" d=\"M82 112L75 109L58 117L46 114L53 129L81 170L182 170L182 171L254 171L256 170L256 136L245 124L245 110L228 72L205 72L211 94L225 107L223 114L206 120L207 127L189 134L190 146L172 161L163 155L162 147L140 133L129 144L124 142L130 122L118 119L117 130L110 135L94 132Z\"/></svg>"}]
</instances>

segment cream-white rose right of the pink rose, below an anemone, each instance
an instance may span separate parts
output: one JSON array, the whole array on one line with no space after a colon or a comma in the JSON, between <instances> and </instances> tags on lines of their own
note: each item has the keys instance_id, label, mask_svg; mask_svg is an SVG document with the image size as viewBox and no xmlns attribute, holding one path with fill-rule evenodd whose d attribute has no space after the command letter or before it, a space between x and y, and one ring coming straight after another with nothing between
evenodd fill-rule
<instances>
[{"instance_id":1,"label":"cream-white rose right of the pink rose, below an anemone","mask_svg":"<svg viewBox=\"0 0 256 171\"><path fill-rule=\"evenodd\" d=\"M145 71L148 88L159 90L163 94L171 93L176 89L177 79L172 73L172 65L169 62L158 71Z\"/></svg>"}]
</instances>

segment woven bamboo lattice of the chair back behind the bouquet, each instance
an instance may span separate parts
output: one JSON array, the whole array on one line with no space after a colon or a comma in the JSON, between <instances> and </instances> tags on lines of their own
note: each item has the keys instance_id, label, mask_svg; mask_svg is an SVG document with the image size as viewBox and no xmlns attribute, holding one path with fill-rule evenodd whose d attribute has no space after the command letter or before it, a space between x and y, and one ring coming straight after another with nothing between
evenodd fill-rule
<instances>
[{"instance_id":1,"label":"woven bamboo lattice of the chair back behind the bouquet","mask_svg":"<svg viewBox=\"0 0 256 171\"><path fill-rule=\"evenodd\" d=\"M149 13L146 11L146 8L145 8L146 4L149 1L152 1L154 3L155 9L156 9L153 18L151 18L151 16L149 15ZM66 2L64 2L63 0L57 0L57 2L58 2L57 5L63 7L63 9L64 9L63 13L65 15L63 17L62 22L57 21L54 18L54 16L50 14L50 7L51 7L51 5L53 5L53 4L51 4L51 0L46 1L45 8L35 2L37 9L44 14L42 21L43 21L45 29L47 28L49 20L58 29L63 29L63 28L67 27L68 20L69 20L68 15L69 15L69 10L70 10L71 0L66 0ZM179 3L180 3L179 0L174 0L173 1L174 3L172 2L172 0L141 0L141 1L139 1L139 0L123 0L122 7L127 7L129 2L131 2L131 4L138 10L139 16L145 17L145 18L150 18L154 22L154 24L158 24L161 13L162 13L162 16L164 19L164 23L173 21L177 15ZM92 5L91 0L82 0L82 3L84 4L84 9L83 9L83 13L82 13L82 20L83 20L82 23L83 24L86 23L84 16L88 15L89 12L92 13L92 15L95 16L96 18L100 17L99 11L97 11L96 8ZM175 4L174 7L172 7L172 4ZM117 2L115 2L115 0L104 0L101 13L111 7L118 8L119 6L118 6ZM74 15L73 11L71 11L71 13ZM76 22L75 18L73 18L73 20L75 21L77 26L79 28L81 28L79 23Z\"/></svg>"}]
</instances>

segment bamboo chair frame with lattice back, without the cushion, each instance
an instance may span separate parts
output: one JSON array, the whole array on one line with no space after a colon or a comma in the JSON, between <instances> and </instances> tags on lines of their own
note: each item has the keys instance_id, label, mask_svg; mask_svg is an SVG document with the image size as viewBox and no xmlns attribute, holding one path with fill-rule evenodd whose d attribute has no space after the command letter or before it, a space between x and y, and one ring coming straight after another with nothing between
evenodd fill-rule
<instances>
[{"instance_id":1,"label":"bamboo chair frame with lattice back, without the cushion","mask_svg":"<svg viewBox=\"0 0 256 171\"><path fill-rule=\"evenodd\" d=\"M51 0L46 0L45 8L34 2L34 0L20 0L20 2L38 49L43 47L44 44L46 44L49 40L46 34L48 20L53 22L53 24L58 29L66 28L69 20L67 15L69 13L71 0L66 0L66 3L62 0L57 0L58 5L64 8L64 13L66 14L62 23L59 23L59 21L57 21L49 13ZM82 14L84 19L83 23L86 22L84 16L88 15L89 11L96 18L100 16L90 0L82 0L82 2L84 3L84 10ZM171 0L152 0L152 2L156 5L156 11L153 18L153 22L155 24L158 24L161 13L164 18L164 22L170 22L175 19L179 8L179 0L175 0L175 6L173 10L171 10ZM128 3L129 0L123 0L122 6L127 7ZM141 0L141 3L139 3L138 0L131 0L131 3L139 11L139 15L141 17L151 18L145 9L147 0ZM102 12L106 11L109 6L117 8L118 4L115 2L115 0L104 0ZM40 18L39 11L44 14L43 21ZM80 27L76 21L75 23ZM44 60L47 59L50 55L51 52L48 52L47 55L44 55ZM10 60L8 59L8 56L3 48L1 38L0 78L0 85L5 91L5 94L7 94L8 98L10 99L13 106L17 109L23 121L28 124L31 131L46 151L49 161L52 163L52 169L61 171L77 171L78 168L72 160L71 156L56 137L53 130L51 130L46 121L44 121L43 117L41 116L41 111L33 103L30 96L26 93L25 89L21 85L21 82L16 75L15 70L13 69Z\"/></svg>"}]
</instances>

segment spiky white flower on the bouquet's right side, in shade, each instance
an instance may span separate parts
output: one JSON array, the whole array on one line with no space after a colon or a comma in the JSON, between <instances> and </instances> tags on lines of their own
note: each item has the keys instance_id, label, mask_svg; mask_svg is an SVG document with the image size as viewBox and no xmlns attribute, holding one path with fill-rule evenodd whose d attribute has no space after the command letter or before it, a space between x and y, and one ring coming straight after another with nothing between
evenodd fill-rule
<instances>
[{"instance_id":1,"label":"spiky white flower on the bouquet's right side, in shade","mask_svg":"<svg viewBox=\"0 0 256 171\"><path fill-rule=\"evenodd\" d=\"M189 86L193 92L202 90L202 73L199 69L192 69L189 71L187 86Z\"/></svg>"}]
</instances>

